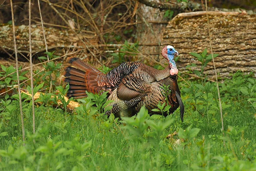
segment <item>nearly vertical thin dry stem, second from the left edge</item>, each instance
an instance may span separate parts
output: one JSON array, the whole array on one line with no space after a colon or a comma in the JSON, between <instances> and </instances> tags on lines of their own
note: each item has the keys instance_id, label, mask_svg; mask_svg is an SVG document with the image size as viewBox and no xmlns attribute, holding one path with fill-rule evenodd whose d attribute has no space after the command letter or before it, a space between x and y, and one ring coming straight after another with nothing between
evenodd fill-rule
<instances>
[{"instance_id":1,"label":"nearly vertical thin dry stem, second from the left edge","mask_svg":"<svg viewBox=\"0 0 256 171\"><path fill-rule=\"evenodd\" d=\"M32 45L31 45L31 0L28 3L29 7L29 62L30 62L30 86L31 86L31 97L32 97L32 122L33 122L33 134L35 133L35 105L34 105L34 86L33 86L33 64L32 64Z\"/></svg>"}]
</instances>

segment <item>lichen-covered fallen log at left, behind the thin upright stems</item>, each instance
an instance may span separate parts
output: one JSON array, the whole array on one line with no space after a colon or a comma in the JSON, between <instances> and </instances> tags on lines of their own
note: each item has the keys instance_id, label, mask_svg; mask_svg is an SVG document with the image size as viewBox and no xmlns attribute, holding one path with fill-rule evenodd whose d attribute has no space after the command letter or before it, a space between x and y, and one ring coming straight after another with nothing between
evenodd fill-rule
<instances>
[{"instance_id":1,"label":"lichen-covered fallen log at left, behind the thin upright stems","mask_svg":"<svg viewBox=\"0 0 256 171\"><path fill-rule=\"evenodd\" d=\"M74 34L70 30L59 30L57 28L44 28L48 51L55 50L55 55L63 55L67 51L88 49L97 45L97 39L94 35L85 33ZM15 38L18 54L27 56L29 54L29 27L27 25L15 26ZM32 54L44 53L45 43L42 27L38 25L31 26ZM9 55L14 54L13 29L12 25L0 26L0 53ZM13 55L14 56L14 55ZM19 60L24 58L19 55ZM24 60L23 60L24 61Z\"/></svg>"}]
</instances>

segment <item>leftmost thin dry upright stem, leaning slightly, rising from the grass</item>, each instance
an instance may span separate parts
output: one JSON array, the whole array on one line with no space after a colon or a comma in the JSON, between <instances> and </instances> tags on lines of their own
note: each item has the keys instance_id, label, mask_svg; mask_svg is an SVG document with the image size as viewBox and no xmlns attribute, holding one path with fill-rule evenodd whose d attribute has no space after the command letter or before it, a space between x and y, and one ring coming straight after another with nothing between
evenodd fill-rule
<instances>
[{"instance_id":1,"label":"leftmost thin dry upright stem, leaning slightly, rising from the grass","mask_svg":"<svg viewBox=\"0 0 256 171\"><path fill-rule=\"evenodd\" d=\"M16 74L17 74L17 81L18 81L19 103L20 103L20 112L21 112L22 139L23 139L23 146L25 146L25 131L24 131L22 104L21 104L21 88L20 88L20 79L19 79L19 71L18 71L19 65L18 65L17 44L16 44L16 37L15 37L12 0L10 0L10 4L11 4L11 20L12 20L12 30L13 30L13 44L14 44L15 61L16 61Z\"/></svg>"}]
</instances>

